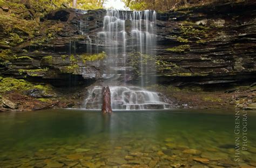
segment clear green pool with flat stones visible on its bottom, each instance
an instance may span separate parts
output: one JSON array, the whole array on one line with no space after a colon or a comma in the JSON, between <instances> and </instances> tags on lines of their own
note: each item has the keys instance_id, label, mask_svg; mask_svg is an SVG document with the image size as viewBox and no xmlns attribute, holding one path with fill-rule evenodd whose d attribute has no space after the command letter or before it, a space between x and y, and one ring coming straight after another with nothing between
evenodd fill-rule
<instances>
[{"instance_id":1,"label":"clear green pool with flat stones visible on its bottom","mask_svg":"<svg viewBox=\"0 0 256 168\"><path fill-rule=\"evenodd\" d=\"M248 113L249 147L240 150L240 162L234 162L234 113L211 112L114 111L102 115L100 111L60 109L2 113L0 166L254 165L256 115ZM200 163L196 158L209 161Z\"/></svg>"}]
</instances>

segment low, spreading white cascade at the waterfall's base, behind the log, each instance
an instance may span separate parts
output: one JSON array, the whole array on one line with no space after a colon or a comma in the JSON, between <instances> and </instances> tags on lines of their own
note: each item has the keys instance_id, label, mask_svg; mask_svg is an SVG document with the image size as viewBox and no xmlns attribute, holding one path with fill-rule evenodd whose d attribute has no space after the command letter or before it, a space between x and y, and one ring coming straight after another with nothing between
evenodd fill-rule
<instances>
[{"instance_id":1,"label":"low, spreading white cascade at the waterfall's base, behind the log","mask_svg":"<svg viewBox=\"0 0 256 168\"><path fill-rule=\"evenodd\" d=\"M111 86L111 107L113 110L144 110L170 108L169 100L163 94L150 92L140 87ZM95 86L89 90L84 108L101 109L102 87Z\"/></svg>"}]
</instances>

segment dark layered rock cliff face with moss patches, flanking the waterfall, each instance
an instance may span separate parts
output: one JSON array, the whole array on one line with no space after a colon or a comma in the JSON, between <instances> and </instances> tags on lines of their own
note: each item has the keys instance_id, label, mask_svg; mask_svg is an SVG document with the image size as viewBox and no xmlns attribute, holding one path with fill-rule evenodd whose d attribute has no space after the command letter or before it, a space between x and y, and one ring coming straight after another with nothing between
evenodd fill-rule
<instances>
[{"instance_id":1,"label":"dark layered rock cliff face with moss patches, flanking the waterfall","mask_svg":"<svg viewBox=\"0 0 256 168\"><path fill-rule=\"evenodd\" d=\"M158 82L204 85L255 81L255 11L256 2L247 1L158 12L154 74ZM75 9L51 12L41 19L35 37L13 48L0 45L1 54L9 55L0 65L0 74L55 85L70 81L89 85L110 79L113 74L105 60L111 58L102 53L104 46L96 40L105 13ZM130 29L129 20L125 24ZM127 64L132 59L127 59ZM136 67L127 69L132 74Z\"/></svg>"}]
</instances>

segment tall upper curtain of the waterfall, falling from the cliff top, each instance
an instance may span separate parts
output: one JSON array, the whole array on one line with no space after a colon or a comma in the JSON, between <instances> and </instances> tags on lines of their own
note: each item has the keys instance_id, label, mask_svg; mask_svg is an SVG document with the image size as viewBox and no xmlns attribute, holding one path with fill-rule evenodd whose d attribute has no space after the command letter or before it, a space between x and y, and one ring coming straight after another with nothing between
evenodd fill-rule
<instances>
[{"instance_id":1,"label":"tall upper curtain of the waterfall, falling from the cliff top","mask_svg":"<svg viewBox=\"0 0 256 168\"><path fill-rule=\"evenodd\" d=\"M119 11L106 10L103 29L98 32L98 39L104 44L108 55L107 64L110 71L126 74L127 52L137 51L154 57L156 48L156 11ZM126 48L129 48L127 51ZM147 80L147 69L154 69L154 65L144 64L140 58L141 86ZM118 68L123 67L123 68ZM125 75L124 75L125 76Z\"/></svg>"}]
</instances>

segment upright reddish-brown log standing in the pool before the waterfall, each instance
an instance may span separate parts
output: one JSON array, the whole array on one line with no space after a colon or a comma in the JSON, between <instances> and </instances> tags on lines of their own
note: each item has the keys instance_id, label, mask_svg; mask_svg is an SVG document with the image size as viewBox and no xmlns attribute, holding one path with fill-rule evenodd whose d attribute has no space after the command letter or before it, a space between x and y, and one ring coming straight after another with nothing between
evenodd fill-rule
<instances>
[{"instance_id":1,"label":"upright reddish-brown log standing in the pool before the waterfall","mask_svg":"<svg viewBox=\"0 0 256 168\"><path fill-rule=\"evenodd\" d=\"M103 103L102 103L102 113L112 113L111 108L111 94L109 86L103 87Z\"/></svg>"}]
</instances>

